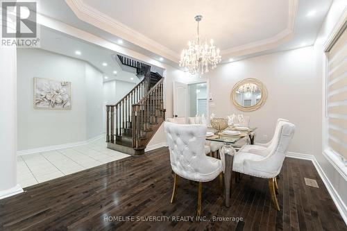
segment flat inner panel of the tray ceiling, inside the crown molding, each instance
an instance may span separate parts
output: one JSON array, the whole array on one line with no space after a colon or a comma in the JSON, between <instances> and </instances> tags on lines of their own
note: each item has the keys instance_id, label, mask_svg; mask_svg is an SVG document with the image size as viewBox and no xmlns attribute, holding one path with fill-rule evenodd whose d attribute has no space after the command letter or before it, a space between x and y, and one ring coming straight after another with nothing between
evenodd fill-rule
<instances>
[{"instance_id":1,"label":"flat inner panel of the tray ceiling, inside the crown molding","mask_svg":"<svg viewBox=\"0 0 347 231\"><path fill-rule=\"evenodd\" d=\"M202 37L212 37L221 50L273 37L287 28L289 19L288 0L83 0L83 3L178 54L187 46L187 40L196 35L195 15L203 15Z\"/></svg>"}]
</instances>

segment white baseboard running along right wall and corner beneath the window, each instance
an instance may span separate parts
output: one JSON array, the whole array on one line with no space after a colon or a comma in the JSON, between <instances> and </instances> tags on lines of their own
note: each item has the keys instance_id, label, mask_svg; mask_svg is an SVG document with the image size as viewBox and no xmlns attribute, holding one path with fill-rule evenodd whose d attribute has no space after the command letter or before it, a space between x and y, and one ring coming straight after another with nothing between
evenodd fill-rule
<instances>
[{"instance_id":1,"label":"white baseboard running along right wall and corner beneath the window","mask_svg":"<svg viewBox=\"0 0 347 231\"><path fill-rule=\"evenodd\" d=\"M340 215L342 216L342 219L344 219L344 222L347 225L347 207L344 203L344 201L341 199L337 191L335 190L334 186L332 186L332 183L330 182L329 178L325 175L323 169L321 168L321 165L316 160L316 157L314 155L307 155L307 154L301 154L301 153L291 153L288 152L287 157L302 159L302 160L311 160L314 167L316 168L316 171L319 173L319 176L321 177L321 180L323 181L325 187L328 189L328 192L334 201L337 209L339 210ZM341 176L343 177L343 176Z\"/></svg>"}]
</instances>

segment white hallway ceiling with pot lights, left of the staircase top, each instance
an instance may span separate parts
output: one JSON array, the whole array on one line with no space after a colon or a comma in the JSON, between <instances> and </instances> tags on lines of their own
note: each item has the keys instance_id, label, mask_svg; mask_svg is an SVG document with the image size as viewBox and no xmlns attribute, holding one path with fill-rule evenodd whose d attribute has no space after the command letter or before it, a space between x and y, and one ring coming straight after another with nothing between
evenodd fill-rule
<instances>
[{"instance_id":1,"label":"white hallway ceiling with pot lights, left of the staircase top","mask_svg":"<svg viewBox=\"0 0 347 231\"><path fill-rule=\"evenodd\" d=\"M123 80L130 83L139 82L135 73L123 71L119 64L112 59L112 55L115 55L113 51L45 27L41 28L40 37L41 49L90 63L90 65L99 69L103 76L107 77L107 79L103 79L104 81ZM80 51L81 54L76 54L76 51ZM103 66L103 62L107 63L107 66ZM113 71L117 71L117 74L114 74Z\"/></svg>"}]
</instances>

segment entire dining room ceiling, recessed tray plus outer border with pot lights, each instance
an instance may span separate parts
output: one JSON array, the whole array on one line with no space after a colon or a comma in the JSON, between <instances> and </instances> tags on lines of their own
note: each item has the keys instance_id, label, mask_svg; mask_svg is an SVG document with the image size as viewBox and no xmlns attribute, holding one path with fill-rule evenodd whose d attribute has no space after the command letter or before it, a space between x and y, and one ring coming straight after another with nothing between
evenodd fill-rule
<instances>
[{"instance_id":1,"label":"entire dining room ceiling, recessed tray plus outer border with pot lights","mask_svg":"<svg viewBox=\"0 0 347 231\"><path fill-rule=\"evenodd\" d=\"M200 31L222 50L223 62L314 44L332 0L50 0L39 12L129 49L177 66ZM308 17L307 13L316 14Z\"/></svg>"}]
</instances>

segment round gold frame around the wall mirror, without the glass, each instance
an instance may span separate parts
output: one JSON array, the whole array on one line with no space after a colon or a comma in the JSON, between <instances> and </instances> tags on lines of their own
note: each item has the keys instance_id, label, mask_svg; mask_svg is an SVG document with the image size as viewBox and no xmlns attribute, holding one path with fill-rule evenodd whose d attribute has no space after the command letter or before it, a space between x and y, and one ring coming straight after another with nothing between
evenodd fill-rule
<instances>
[{"instance_id":1,"label":"round gold frame around the wall mirror, without the glass","mask_svg":"<svg viewBox=\"0 0 347 231\"><path fill-rule=\"evenodd\" d=\"M239 88L239 86L244 85L245 83L253 83L257 85L257 87L259 87L260 91L262 92L262 98L260 98L260 101L258 101L257 103L255 103L255 105L251 107L244 107L242 105L239 105L239 103L237 103L237 100L236 100L236 90ZM244 80L237 82L235 86L232 88L232 91L230 94L230 99L232 103L234 103L235 107L238 110L242 110L243 112L252 112L252 111L258 110L259 108L262 107L262 105L264 105L266 98L267 98L266 87L264 86L262 82L260 82L260 80L257 80L256 78L246 78Z\"/></svg>"}]
</instances>

